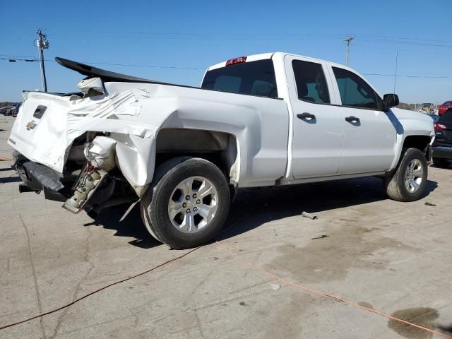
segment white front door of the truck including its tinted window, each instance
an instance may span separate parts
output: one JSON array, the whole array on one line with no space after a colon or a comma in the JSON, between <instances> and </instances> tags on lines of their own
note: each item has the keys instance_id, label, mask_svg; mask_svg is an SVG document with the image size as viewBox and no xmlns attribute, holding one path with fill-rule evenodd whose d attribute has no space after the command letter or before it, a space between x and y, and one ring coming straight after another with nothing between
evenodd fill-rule
<instances>
[{"instance_id":1,"label":"white front door of the truck including its tinted window","mask_svg":"<svg viewBox=\"0 0 452 339\"><path fill-rule=\"evenodd\" d=\"M356 73L330 67L344 123L338 174L386 171L395 157L397 136L391 112L381 110L379 95Z\"/></svg>"}]
</instances>

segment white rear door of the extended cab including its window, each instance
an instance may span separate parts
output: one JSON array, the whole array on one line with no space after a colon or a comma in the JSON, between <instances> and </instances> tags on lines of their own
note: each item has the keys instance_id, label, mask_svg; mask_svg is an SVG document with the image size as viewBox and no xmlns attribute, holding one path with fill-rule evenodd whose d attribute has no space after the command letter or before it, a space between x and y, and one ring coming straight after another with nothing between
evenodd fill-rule
<instances>
[{"instance_id":1,"label":"white rear door of the extended cab including its window","mask_svg":"<svg viewBox=\"0 0 452 339\"><path fill-rule=\"evenodd\" d=\"M335 175L340 166L343 119L334 102L326 64L285 57L292 105L292 174L295 179Z\"/></svg>"}]
</instances>

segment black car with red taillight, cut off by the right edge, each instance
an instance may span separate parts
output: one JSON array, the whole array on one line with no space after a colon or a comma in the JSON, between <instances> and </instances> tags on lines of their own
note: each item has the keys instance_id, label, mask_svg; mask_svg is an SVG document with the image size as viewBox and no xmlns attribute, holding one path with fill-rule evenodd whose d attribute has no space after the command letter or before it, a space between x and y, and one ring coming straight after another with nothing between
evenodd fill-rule
<instances>
[{"instance_id":1,"label":"black car with red taillight, cut off by the right edge","mask_svg":"<svg viewBox=\"0 0 452 339\"><path fill-rule=\"evenodd\" d=\"M432 145L433 163L448 167L452 160L452 108L449 108L434 124L435 140Z\"/></svg>"}]
</instances>

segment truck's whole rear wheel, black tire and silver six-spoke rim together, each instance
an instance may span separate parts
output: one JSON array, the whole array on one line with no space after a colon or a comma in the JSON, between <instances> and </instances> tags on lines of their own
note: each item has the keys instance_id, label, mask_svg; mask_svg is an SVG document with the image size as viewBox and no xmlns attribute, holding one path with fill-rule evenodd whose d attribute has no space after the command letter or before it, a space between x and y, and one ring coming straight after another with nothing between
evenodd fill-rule
<instances>
[{"instance_id":1,"label":"truck's whole rear wheel, black tire and silver six-spoke rim together","mask_svg":"<svg viewBox=\"0 0 452 339\"><path fill-rule=\"evenodd\" d=\"M230 208L225 175L212 162L178 157L157 169L141 199L141 217L155 239L173 249L206 244L220 232Z\"/></svg>"}]
</instances>

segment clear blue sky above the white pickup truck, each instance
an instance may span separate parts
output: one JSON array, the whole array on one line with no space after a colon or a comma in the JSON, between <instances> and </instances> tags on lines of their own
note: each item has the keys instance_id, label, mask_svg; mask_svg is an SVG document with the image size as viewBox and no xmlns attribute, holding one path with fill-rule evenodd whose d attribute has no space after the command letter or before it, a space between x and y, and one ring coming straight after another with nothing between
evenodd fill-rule
<instances>
[{"instance_id":1,"label":"clear blue sky above the white pickup truck","mask_svg":"<svg viewBox=\"0 0 452 339\"><path fill-rule=\"evenodd\" d=\"M82 78L50 61L54 57L199 85L207 66L262 52L292 52L344 64L343 39L351 34L350 67L390 75L366 75L380 93L393 91L398 52L398 74L422 76L397 78L400 100L442 103L452 100L450 13L451 0L0 0L0 58L37 57L33 40L42 28L50 42L44 55L49 91L76 90ZM41 88L39 64L0 60L0 80L0 101L20 100L22 90Z\"/></svg>"}]
</instances>

